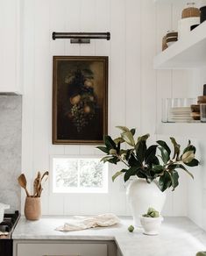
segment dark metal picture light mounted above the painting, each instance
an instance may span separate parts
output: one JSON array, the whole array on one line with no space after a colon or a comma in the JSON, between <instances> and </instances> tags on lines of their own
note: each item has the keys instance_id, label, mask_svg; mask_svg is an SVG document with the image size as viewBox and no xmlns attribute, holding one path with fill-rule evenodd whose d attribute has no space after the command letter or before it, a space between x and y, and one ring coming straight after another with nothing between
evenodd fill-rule
<instances>
[{"instance_id":1,"label":"dark metal picture light mounted above the painting","mask_svg":"<svg viewBox=\"0 0 206 256\"><path fill-rule=\"evenodd\" d=\"M89 44L90 39L110 40L110 32L53 32L55 39L70 39L71 44Z\"/></svg>"}]
</instances>

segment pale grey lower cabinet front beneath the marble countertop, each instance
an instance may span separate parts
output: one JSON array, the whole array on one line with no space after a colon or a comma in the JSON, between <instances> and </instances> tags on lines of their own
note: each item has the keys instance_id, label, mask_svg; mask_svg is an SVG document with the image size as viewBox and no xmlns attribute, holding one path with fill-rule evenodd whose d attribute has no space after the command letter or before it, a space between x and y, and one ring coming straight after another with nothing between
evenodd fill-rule
<instances>
[{"instance_id":1,"label":"pale grey lower cabinet front beneath the marble countertop","mask_svg":"<svg viewBox=\"0 0 206 256\"><path fill-rule=\"evenodd\" d=\"M110 241L14 241L13 256L116 256Z\"/></svg>"}]
</instances>

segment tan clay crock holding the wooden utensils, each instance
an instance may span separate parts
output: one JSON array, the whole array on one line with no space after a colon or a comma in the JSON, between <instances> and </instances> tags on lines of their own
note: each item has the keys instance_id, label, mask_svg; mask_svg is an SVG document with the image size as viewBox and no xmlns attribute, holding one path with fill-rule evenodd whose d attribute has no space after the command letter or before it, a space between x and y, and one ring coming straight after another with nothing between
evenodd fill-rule
<instances>
[{"instance_id":1,"label":"tan clay crock holding the wooden utensils","mask_svg":"<svg viewBox=\"0 0 206 256\"><path fill-rule=\"evenodd\" d=\"M28 220L38 220L41 217L40 197L25 198L25 217Z\"/></svg>"}]
</instances>

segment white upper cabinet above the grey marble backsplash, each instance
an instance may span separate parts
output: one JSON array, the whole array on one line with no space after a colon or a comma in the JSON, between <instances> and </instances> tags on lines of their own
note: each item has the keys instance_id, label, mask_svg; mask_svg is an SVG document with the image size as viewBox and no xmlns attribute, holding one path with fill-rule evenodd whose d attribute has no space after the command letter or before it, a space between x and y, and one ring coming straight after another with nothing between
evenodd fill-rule
<instances>
[{"instance_id":1,"label":"white upper cabinet above the grey marble backsplash","mask_svg":"<svg viewBox=\"0 0 206 256\"><path fill-rule=\"evenodd\" d=\"M21 1L0 0L0 93L21 94Z\"/></svg>"}]
</instances>

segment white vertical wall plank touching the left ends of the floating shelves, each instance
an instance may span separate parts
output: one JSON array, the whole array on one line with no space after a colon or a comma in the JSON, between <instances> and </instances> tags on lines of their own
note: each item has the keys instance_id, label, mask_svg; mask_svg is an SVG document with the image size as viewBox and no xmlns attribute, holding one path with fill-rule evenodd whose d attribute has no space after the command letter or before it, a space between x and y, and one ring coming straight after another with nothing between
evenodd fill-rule
<instances>
[{"instance_id":1,"label":"white vertical wall plank touching the left ends of the floating shelves","mask_svg":"<svg viewBox=\"0 0 206 256\"><path fill-rule=\"evenodd\" d=\"M154 134L156 124L156 73L153 69L153 57L156 51L155 4L149 0L141 1L141 12L141 125L143 131Z\"/></svg>"}]
</instances>

